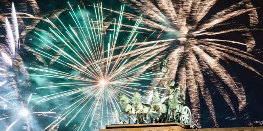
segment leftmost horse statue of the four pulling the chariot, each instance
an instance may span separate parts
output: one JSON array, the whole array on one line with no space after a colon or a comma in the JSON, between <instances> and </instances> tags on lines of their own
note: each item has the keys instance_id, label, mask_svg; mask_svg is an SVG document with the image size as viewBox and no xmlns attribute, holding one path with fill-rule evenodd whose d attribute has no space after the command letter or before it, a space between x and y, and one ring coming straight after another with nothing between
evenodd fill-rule
<instances>
[{"instance_id":1,"label":"leftmost horse statue of the four pulling the chariot","mask_svg":"<svg viewBox=\"0 0 263 131\"><path fill-rule=\"evenodd\" d=\"M118 102L122 102L122 112L120 112L118 116L119 121L121 121L120 115L126 113L129 116L128 124L130 124L131 115L135 114L134 106L129 102L129 98L124 94L119 94ZM137 123L137 121L135 123Z\"/></svg>"}]
</instances>

